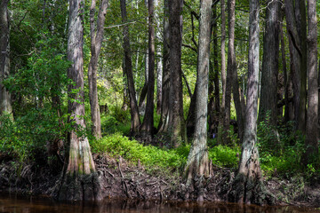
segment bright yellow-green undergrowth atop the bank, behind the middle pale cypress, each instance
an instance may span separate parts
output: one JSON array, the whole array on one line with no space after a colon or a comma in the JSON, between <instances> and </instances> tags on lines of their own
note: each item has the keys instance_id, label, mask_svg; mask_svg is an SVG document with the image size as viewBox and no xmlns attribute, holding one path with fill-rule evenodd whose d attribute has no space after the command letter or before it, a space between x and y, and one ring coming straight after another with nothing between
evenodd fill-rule
<instances>
[{"instance_id":1,"label":"bright yellow-green undergrowth atop the bank, behind the middle pale cypress","mask_svg":"<svg viewBox=\"0 0 320 213\"><path fill-rule=\"evenodd\" d=\"M124 137L121 133L108 135L100 140L92 140L93 153L108 153L114 157L122 156L136 164L138 160L148 168L183 170L188 159L190 146L164 149L156 146L144 146L136 140ZM221 167L236 168L240 154L239 146L214 146L209 149L209 158L213 164Z\"/></svg>"}]
</instances>

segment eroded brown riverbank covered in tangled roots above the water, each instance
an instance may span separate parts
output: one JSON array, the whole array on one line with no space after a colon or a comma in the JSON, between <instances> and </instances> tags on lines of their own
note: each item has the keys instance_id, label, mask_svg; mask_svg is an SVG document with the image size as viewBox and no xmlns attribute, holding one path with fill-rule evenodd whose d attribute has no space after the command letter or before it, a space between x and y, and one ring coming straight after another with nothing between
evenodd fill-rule
<instances>
[{"instance_id":1,"label":"eroded brown riverbank covered in tangled roots above the water","mask_svg":"<svg viewBox=\"0 0 320 213\"><path fill-rule=\"evenodd\" d=\"M17 162L12 156L0 153L0 192L43 194L55 197L59 185L60 160L50 162L38 155L34 162ZM187 188L180 171L146 169L137 163L108 154L93 154L100 179L102 196L105 198L156 199L183 201L196 200L198 188ZM204 201L228 201L231 183L236 170L213 166L211 177L204 179ZM195 180L195 183L197 180ZM268 177L263 179L268 192L276 199L275 204L320 207L320 185L307 185L303 177Z\"/></svg>"}]
</instances>

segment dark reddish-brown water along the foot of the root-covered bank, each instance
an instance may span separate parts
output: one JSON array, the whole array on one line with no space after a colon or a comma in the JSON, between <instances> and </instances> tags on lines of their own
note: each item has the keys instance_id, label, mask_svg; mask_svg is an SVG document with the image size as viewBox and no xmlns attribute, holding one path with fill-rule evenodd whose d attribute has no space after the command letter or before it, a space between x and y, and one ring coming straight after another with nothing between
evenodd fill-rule
<instances>
[{"instance_id":1,"label":"dark reddish-brown water along the foot of the root-covered bank","mask_svg":"<svg viewBox=\"0 0 320 213\"><path fill-rule=\"evenodd\" d=\"M282 212L320 212L316 209L298 207L259 207L255 205L237 205L224 202L182 202L182 201L126 201L105 200L100 203L61 203L38 197L20 197L0 194L0 212L115 212L115 213L282 213Z\"/></svg>"}]
</instances>

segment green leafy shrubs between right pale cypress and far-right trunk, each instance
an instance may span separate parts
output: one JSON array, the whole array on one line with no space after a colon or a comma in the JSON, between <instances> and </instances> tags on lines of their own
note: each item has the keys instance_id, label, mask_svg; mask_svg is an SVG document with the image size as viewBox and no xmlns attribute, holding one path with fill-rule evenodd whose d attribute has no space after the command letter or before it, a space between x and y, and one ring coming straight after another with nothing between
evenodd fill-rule
<instances>
[{"instance_id":1,"label":"green leafy shrubs between right pale cypress and far-right trunk","mask_svg":"<svg viewBox=\"0 0 320 213\"><path fill-rule=\"evenodd\" d=\"M276 129L269 124L269 117L258 125L261 169L266 175L274 173L289 177L303 172L301 163L305 152L304 137L294 130L292 122Z\"/></svg>"}]
</instances>

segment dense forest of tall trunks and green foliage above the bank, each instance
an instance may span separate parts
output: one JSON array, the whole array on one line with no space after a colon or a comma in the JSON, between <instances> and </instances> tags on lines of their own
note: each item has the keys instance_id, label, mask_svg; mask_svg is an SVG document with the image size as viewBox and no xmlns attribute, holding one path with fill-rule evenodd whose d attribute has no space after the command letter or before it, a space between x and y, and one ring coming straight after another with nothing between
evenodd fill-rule
<instances>
[{"instance_id":1,"label":"dense forest of tall trunks and green foliage above the bank","mask_svg":"<svg viewBox=\"0 0 320 213\"><path fill-rule=\"evenodd\" d=\"M92 152L187 185L235 168L230 201L260 196L263 176L317 183L319 7L2 0L0 152L17 172L44 156L60 200L100 199Z\"/></svg>"}]
</instances>

